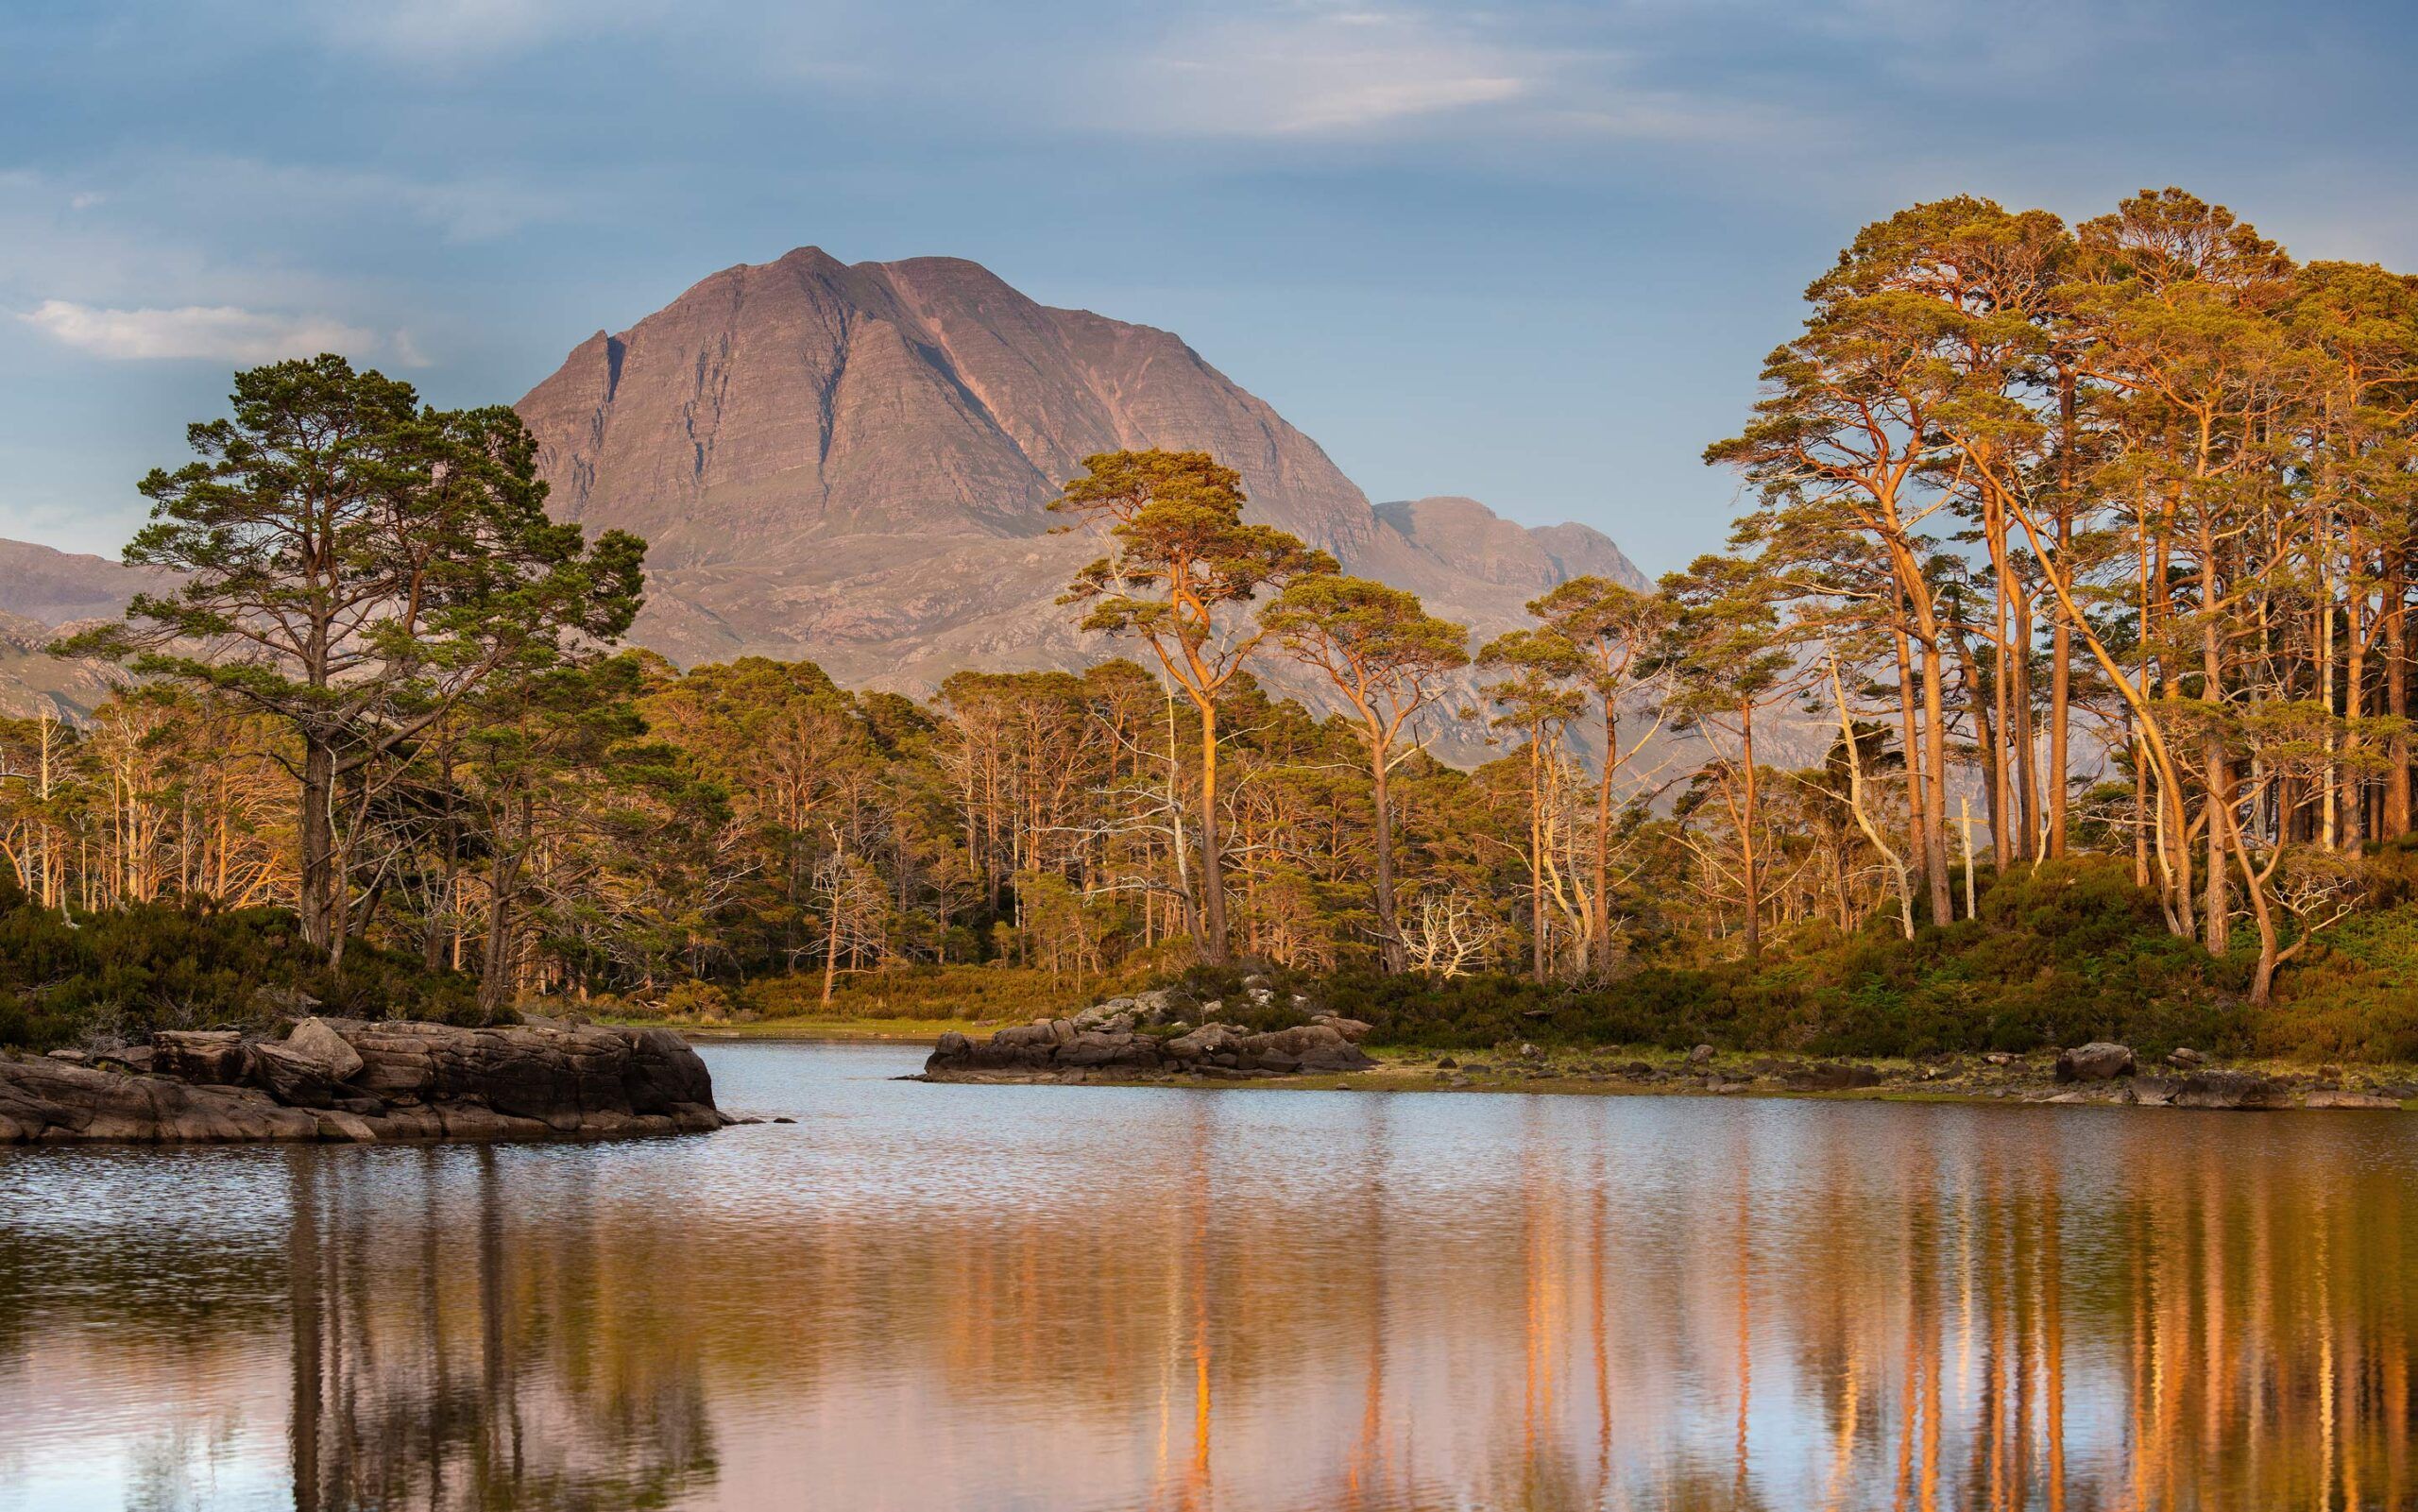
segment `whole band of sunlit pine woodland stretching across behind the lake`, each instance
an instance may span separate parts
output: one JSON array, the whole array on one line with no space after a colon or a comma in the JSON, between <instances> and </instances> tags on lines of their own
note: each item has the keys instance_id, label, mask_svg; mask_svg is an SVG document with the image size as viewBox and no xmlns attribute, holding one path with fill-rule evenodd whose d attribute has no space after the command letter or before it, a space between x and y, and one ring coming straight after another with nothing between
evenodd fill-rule
<instances>
[{"instance_id":1,"label":"whole band of sunlit pine woodland stretching across behind the lake","mask_svg":"<svg viewBox=\"0 0 2418 1512\"><path fill-rule=\"evenodd\" d=\"M508 409L278 363L143 484L128 559L179 588L68 646L140 682L0 723L0 856L39 907L273 902L491 1006L982 960L1584 985L2104 856L2263 1004L2413 827L2413 445L2418 278L2174 189L1949 198L1811 283L1705 452L1731 549L1656 590L1477 646L1214 457L1110 452L1062 602L1132 658L916 702L619 648L643 544L549 523ZM1431 755L1460 721L1475 769Z\"/></svg>"}]
</instances>

